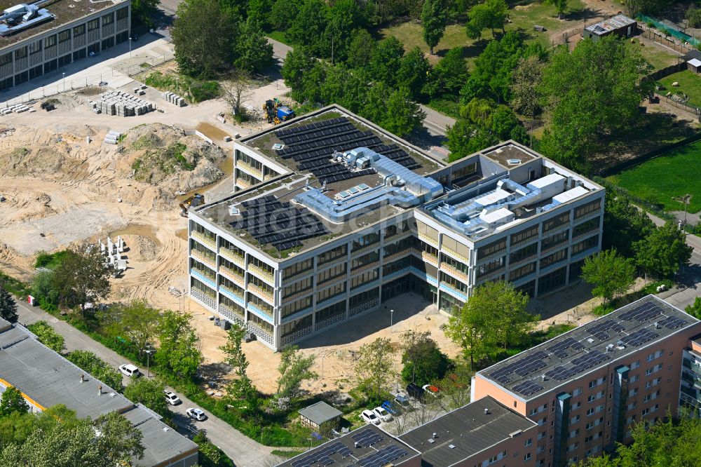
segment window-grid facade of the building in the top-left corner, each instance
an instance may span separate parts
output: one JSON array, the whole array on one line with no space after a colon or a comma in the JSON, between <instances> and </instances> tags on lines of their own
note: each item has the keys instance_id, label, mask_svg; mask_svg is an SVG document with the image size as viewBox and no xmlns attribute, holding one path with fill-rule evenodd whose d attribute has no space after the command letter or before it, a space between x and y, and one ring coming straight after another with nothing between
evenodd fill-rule
<instances>
[{"instance_id":1,"label":"window-grid facade of the building in the top-left corner","mask_svg":"<svg viewBox=\"0 0 701 467\"><path fill-rule=\"evenodd\" d=\"M65 3L67 0L63 0L61 6ZM61 69L76 60L128 41L131 0L109 3L114 5L88 15L76 15L73 21L65 22L62 18L62 24L38 34L29 35L32 27L18 33L27 34L27 38L0 48L0 90L41 76L60 74ZM52 5L56 4L46 7L50 13ZM77 13L80 8L76 6L74 11ZM49 25L51 21L57 22L50 20Z\"/></svg>"}]
</instances>

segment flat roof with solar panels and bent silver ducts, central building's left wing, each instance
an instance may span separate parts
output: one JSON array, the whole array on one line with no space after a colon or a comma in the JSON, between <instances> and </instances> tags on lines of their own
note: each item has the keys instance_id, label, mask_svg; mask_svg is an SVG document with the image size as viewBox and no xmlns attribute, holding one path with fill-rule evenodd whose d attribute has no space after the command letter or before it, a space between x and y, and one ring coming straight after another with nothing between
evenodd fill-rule
<instances>
[{"instance_id":1,"label":"flat roof with solar panels and bent silver ducts, central building's left wing","mask_svg":"<svg viewBox=\"0 0 701 467\"><path fill-rule=\"evenodd\" d=\"M315 248L444 194L426 177L441 163L338 107L238 144L287 173L193 211L272 257Z\"/></svg>"}]
</instances>

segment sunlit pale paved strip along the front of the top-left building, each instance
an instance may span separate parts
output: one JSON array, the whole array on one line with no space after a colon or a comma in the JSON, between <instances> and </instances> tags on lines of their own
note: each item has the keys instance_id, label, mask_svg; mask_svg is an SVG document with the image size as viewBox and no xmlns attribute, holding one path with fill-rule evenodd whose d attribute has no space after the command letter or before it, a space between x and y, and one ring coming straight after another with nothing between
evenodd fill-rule
<instances>
[{"instance_id":1,"label":"sunlit pale paved strip along the front of the top-left building","mask_svg":"<svg viewBox=\"0 0 701 467\"><path fill-rule=\"evenodd\" d=\"M116 83L119 87L127 84L133 76L147 72L149 69L157 67L158 65L163 65L163 63L170 62L175 58L173 53L164 53L163 55L158 55L156 57L144 57L144 60L137 64L131 65L129 67L120 67L119 64L115 64L109 69L105 69L105 72L99 74L90 74L86 76L76 76L76 77L64 77L55 83L48 84L46 86L41 86L41 88L36 88L27 91L27 93L22 93L14 97L9 97L7 95L4 99L0 97L0 108L11 107L17 104L27 104L29 102L35 102L36 100L41 100L46 97L52 97L61 93L65 93L71 90L77 90L89 87L103 87L111 85L111 81L114 79L122 78L124 83ZM109 70L109 71L108 71ZM60 76L60 72L56 72L54 76ZM64 74L65 76L65 74ZM4 100L4 102L2 102Z\"/></svg>"}]
</instances>

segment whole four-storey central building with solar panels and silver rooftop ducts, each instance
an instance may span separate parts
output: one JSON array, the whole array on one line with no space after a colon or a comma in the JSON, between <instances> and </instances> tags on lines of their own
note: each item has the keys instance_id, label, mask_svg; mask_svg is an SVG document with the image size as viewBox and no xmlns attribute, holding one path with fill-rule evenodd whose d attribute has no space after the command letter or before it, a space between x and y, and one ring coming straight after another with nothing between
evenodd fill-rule
<instances>
[{"instance_id":1,"label":"whole four-storey central building with solar panels and silver rooftop ducts","mask_svg":"<svg viewBox=\"0 0 701 467\"><path fill-rule=\"evenodd\" d=\"M192 299L278 350L404 292L538 297L601 248L604 189L516 142L444 163L339 106L235 142L234 193L189 209Z\"/></svg>"}]
</instances>

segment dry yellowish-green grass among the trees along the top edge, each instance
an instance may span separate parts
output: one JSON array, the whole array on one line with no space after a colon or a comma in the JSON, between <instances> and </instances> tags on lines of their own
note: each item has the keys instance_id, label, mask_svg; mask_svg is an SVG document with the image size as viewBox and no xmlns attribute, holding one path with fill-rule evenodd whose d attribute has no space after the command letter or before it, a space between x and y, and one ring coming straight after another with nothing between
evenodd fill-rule
<instances>
[{"instance_id":1,"label":"dry yellowish-green grass among the trees along the top edge","mask_svg":"<svg viewBox=\"0 0 701 467\"><path fill-rule=\"evenodd\" d=\"M505 27L507 31L520 31L524 34L526 42L539 41L544 46L550 47L550 34L557 31L564 31L575 27L577 21L573 18L581 15L585 10L582 0L571 0L569 5L569 13L567 17L570 20L557 19L557 13L554 6L543 5L539 1L529 5L519 5L509 11L509 18L512 22ZM533 30L534 25L540 25L547 29L546 32L536 32ZM418 46L423 53L428 54L428 46L423 42L421 37L421 23L418 21L402 22L398 25L384 27L376 32L378 39L386 39L389 36L395 36L404 43L404 49L411 50ZM496 31L496 36L501 37L501 30ZM436 56L429 56L428 60L437 62L440 57L454 47L462 47L463 55L468 62L475 60L475 57L482 53L488 41L494 39L491 30L485 29L482 32L482 39L468 39L465 34L465 25L449 25L445 29L443 38L438 45L433 49Z\"/></svg>"}]
</instances>

